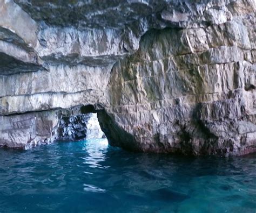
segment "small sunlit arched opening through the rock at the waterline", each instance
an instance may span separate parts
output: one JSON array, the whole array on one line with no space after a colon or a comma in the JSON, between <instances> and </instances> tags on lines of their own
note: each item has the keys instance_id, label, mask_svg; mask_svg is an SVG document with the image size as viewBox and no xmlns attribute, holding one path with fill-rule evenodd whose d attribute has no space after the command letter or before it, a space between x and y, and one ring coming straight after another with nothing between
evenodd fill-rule
<instances>
[{"instance_id":1,"label":"small sunlit arched opening through the rock at the waterline","mask_svg":"<svg viewBox=\"0 0 256 213\"><path fill-rule=\"evenodd\" d=\"M100 140L108 144L105 133L102 131L97 110L93 105L82 106L75 115L62 116L58 125L58 140Z\"/></svg>"}]
</instances>

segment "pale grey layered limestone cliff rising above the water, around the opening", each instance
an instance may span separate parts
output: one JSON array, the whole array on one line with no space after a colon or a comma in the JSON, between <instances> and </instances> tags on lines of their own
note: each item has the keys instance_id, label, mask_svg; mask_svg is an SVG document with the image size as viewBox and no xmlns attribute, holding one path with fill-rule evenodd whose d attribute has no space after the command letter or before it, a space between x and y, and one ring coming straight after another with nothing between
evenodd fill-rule
<instances>
[{"instance_id":1,"label":"pale grey layered limestone cliff rising above the water, around the opening","mask_svg":"<svg viewBox=\"0 0 256 213\"><path fill-rule=\"evenodd\" d=\"M49 143L64 117L97 112L129 150L256 151L255 11L254 0L0 0L0 145Z\"/></svg>"}]
</instances>

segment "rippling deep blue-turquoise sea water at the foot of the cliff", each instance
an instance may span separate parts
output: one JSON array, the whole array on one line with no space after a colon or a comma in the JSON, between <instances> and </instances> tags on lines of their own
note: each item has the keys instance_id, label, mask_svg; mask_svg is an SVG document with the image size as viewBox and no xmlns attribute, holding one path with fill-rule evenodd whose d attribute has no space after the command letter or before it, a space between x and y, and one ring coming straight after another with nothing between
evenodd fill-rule
<instances>
[{"instance_id":1,"label":"rippling deep blue-turquoise sea water at the foot of the cliff","mask_svg":"<svg viewBox=\"0 0 256 213\"><path fill-rule=\"evenodd\" d=\"M0 150L0 212L256 212L256 155L129 153L106 141Z\"/></svg>"}]
</instances>

